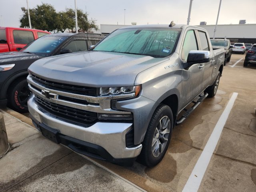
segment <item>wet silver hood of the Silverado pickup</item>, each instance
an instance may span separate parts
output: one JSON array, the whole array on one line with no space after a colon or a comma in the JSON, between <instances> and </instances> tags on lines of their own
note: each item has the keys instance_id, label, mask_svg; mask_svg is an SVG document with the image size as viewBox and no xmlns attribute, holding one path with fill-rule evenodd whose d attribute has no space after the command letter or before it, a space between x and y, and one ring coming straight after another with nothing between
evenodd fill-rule
<instances>
[{"instance_id":1,"label":"wet silver hood of the Silverado pickup","mask_svg":"<svg viewBox=\"0 0 256 192\"><path fill-rule=\"evenodd\" d=\"M47 80L92 87L134 85L136 76L169 58L86 51L43 58L28 68Z\"/></svg>"}]
</instances>

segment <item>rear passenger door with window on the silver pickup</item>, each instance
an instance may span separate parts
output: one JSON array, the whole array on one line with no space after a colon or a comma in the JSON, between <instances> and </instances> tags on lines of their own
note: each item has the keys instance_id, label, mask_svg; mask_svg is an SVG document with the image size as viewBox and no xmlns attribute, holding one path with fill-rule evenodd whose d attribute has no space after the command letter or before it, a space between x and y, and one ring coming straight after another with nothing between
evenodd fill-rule
<instances>
[{"instance_id":1,"label":"rear passenger door with window on the silver pickup","mask_svg":"<svg viewBox=\"0 0 256 192\"><path fill-rule=\"evenodd\" d=\"M208 39L210 39L210 38L207 37L206 32L196 30L196 33L198 36L199 50L210 51L210 46L209 46L209 42L208 42ZM202 87L203 90L207 86L212 84L212 72L213 72L213 68L214 68L214 63L216 63L216 62L214 61L214 54L211 51L210 51L209 59L210 59L209 62L202 63L202 65L204 66L204 75L203 75L203 80L201 82L203 85L203 87Z\"/></svg>"}]
</instances>

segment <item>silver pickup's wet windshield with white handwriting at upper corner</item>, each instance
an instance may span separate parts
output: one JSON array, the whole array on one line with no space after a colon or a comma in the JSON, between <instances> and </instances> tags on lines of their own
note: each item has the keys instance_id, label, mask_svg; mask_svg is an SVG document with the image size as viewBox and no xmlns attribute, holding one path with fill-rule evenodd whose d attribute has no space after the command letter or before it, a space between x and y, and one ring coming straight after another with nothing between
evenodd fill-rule
<instances>
[{"instance_id":1,"label":"silver pickup's wet windshield with white handwriting at upper corner","mask_svg":"<svg viewBox=\"0 0 256 192\"><path fill-rule=\"evenodd\" d=\"M93 51L166 57L174 52L179 32L169 28L119 29L108 35Z\"/></svg>"}]
</instances>

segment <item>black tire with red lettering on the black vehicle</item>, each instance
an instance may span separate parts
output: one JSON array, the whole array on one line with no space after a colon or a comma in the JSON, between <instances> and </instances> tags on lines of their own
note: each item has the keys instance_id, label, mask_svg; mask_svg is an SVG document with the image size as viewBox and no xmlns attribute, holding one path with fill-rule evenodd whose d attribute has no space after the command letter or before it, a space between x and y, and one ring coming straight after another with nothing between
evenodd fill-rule
<instances>
[{"instance_id":1,"label":"black tire with red lettering on the black vehicle","mask_svg":"<svg viewBox=\"0 0 256 192\"><path fill-rule=\"evenodd\" d=\"M8 106L18 112L28 112L28 97L30 95L26 79L14 82L8 93Z\"/></svg>"}]
</instances>

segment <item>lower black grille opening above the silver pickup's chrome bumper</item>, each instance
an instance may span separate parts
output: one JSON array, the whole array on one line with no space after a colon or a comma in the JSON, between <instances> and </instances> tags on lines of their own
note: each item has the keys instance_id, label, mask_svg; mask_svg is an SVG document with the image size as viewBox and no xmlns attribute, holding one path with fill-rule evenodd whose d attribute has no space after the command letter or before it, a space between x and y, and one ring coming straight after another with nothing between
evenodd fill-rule
<instances>
[{"instance_id":1,"label":"lower black grille opening above the silver pickup's chrome bumper","mask_svg":"<svg viewBox=\"0 0 256 192\"><path fill-rule=\"evenodd\" d=\"M55 104L35 95L36 103L46 112L72 122L91 125L98 119L97 113Z\"/></svg>"}]
</instances>

